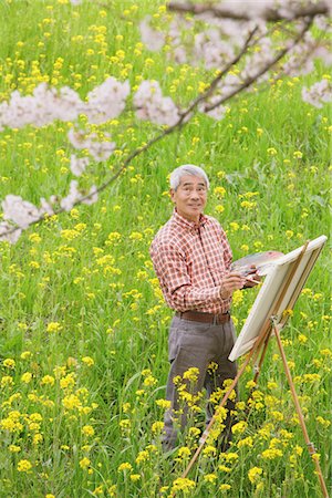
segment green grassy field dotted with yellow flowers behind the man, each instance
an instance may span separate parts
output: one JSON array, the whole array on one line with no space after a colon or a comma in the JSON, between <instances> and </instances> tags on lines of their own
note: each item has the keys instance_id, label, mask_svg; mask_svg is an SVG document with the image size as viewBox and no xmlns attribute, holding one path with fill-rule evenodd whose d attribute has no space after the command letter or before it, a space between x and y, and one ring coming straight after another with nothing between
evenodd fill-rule
<instances>
[{"instance_id":1,"label":"green grassy field dotted with yellow flowers behind the man","mask_svg":"<svg viewBox=\"0 0 332 498\"><path fill-rule=\"evenodd\" d=\"M165 95L188 102L207 75L146 51L139 40L137 21L159 6L163 12L160 1L2 0L0 101L43 81L85 97L113 75L132 86L160 80ZM305 84L326 72L317 66ZM1 498L170 496L197 438L188 428L166 458L158 437L172 311L148 247L172 214L167 175L185 163L205 167L206 212L227 230L235 259L287 252L329 235L332 127L326 108L301 101L302 84L293 77L246 93L219 123L197 115L133 160L97 204L32 227L14 246L0 243ZM10 193L32 203L65 195L73 178L69 126L0 133L1 200ZM95 129L111 132L118 148L83 177L86 185L106 179L157 133L131 112ZM330 283L325 248L282 335L326 479ZM235 294L238 331L257 292ZM207 446L190 480L178 481L177 496L320 496L277 353L272 340L247 423L245 403L238 406L230 452ZM242 402L251 378L248 370Z\"/></svg>"}]
</instances>

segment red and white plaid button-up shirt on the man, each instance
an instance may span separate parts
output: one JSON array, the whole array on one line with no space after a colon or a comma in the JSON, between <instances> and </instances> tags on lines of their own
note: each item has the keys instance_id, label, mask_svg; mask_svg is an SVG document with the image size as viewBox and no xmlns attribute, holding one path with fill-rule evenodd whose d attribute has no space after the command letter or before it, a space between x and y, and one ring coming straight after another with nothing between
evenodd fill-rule
<instances>
[{"instance_id":1,"label":"red and white plaid button-up shirt on the man","mask_svg":"<svg viewBox=\"0 0 332 498\"><path fill-rule=\"evenodd\" d=\"M220 298L220 284L232 255L215 218L201 215L197 225L175 210L149 251L169 308L215 314L229 310L231 299Z\"/></svg>"}]
</instances>

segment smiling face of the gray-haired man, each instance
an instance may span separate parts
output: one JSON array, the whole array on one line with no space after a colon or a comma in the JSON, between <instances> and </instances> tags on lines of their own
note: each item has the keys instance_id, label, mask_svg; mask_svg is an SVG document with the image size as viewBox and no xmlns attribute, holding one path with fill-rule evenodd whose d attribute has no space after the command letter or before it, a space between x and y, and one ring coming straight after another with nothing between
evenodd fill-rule
<instances>
[{"instance_id":1,"label":"smiling face of the gray-haired man","mask_svg":"<svg viewBox=\"0 0 332 498\"><path fill-rule=\"evenodd\" d=\"M170 198L180 216L198 222L207 201L204 178L194 175L183 176L177 189L170 189Z\"/></svg>"}]
</instances>

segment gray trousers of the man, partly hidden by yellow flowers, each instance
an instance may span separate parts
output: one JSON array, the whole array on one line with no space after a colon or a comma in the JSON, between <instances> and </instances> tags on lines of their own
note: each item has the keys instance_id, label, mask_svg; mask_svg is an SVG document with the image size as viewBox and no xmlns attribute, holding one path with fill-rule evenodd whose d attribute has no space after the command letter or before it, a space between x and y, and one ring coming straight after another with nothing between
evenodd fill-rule
<instances>
[{"instance_id":1,"label":"gray trousers of the man, partly hidden by yellow flowers","mask_svg":"<svg viewBox=\"0 0 332 498\"><path fill-rule=\"evenodd\" d=\"M183 376L190 367L199 370L198 380L195 386L190 386L190 393L197 394L204 387L207 397L209 397L218 388L222 388L226 378L234 378L237 374L236 362L230 362L228 355L236 340L234 323L224 323L222 325L214 325L210 323L194 322L174 317L169 328L168 339L168 360L170 369L166 386L166 400L170 401L170 409L165 413L165 449L174 448L177 444L177 427L184 429L187 424L187 409L178 417L180 402L178 392L174 384L174 377ZM212 373L208 372L208 365L214 362L218 366ZM234 409L235 403L228 401L227 419L224 422L225 439L230 439L231 416L229 412ZM183 407L183 406L181 406ZM208 424L212 417L212 408L207 406L206 423ZM177 423L174 424L174 418ZM226 448L224 447L224 450Z\"/></svg>"}]
</instances>

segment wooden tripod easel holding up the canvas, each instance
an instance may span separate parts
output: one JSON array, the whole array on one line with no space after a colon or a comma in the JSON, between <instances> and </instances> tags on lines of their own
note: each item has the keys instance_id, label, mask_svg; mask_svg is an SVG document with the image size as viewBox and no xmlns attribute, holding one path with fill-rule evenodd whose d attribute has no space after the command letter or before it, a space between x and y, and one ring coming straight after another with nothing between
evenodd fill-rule
<instances>
[{"instance_id":1,"label":"wooden tripod easel holding up the canvas","mask_svg":"<svg viewBox=\"0 0 332 498\"><path fill-rule=\"evenodd\" d=\"M253 361L253 364L256 365L255 366L256 374L255 374L253 381L257 383L257 380L258 380L258 376L259 376L259 373L260 373L260 369L261 369L261 365L262 365L264 356L266 356L266 352L267 352L267 349L268 349L268 344L269 344L270 338L273 334L276 336L276 339L277 339L279 353L280 353L280 356L281 356L281 360L282 360L282 364L283 364L283 370L284 370L284 373L286 373L288 382L289 382L291 395L292 395L293 403L294 403L294 406L295 406L295 409L297 409L297 413L298 413L298 417L299 417L301 429L302 429L302 433L303 433L303 436L304 436L304 440L305 440L309 454L312 457L312 455L315 454L317 450L314 448L313 443L310 442L310 438L309 438L309 435L308 435L308 430L307 430L303 413L302 413L302 409L301 409L301 406L300 406L300 403L299 403L298 394L297 394L295 388L294 388L294 383L293 383L293 380L292 380L292 376L291 376L290 369L289 369L288 363L287 363L286 353L284 353L283 346L282 346L282 342L281 342L281 339L280 339L280 331L284 328L284 325L286 325L286 323L288 321L288 315L289 314L288 313L283 313L283 315L281 317L281 320L278 320L278 317L276 314L276 311L279 310L279 307L281 305L281 303L282 303L282 301L284 299L286 292L287 292L287 290L289 288L289 284L291 282L293 276L295 274L295 271L297 271L297 269L298 269L298 267L299 267L299 264L300 264L300 262L301 262L301 260L302 260L302 258L304 256L304 252L307 250L308 243L309 243L309 241L307 241L305 245L303 246L299 258L295 260L295 262L294 262L294 264L292 267L292 270L290 271L290 274L288 276L287 280L283 282L283 286L280 289L280 293L279 293L279 298L277 300L277 303L273 304L273 309L271 309L269 314L268 314L270 317L269 320L267 320L266 323L263 324L260 334L258 335L256 342L253 343L253 346L249 351L249 353L248 353L245 362L242 363L242 365L241 365L237 376L234 378L234 381L230 384L228 391L224 395L224 397L222 397L222 400L221 400L221 402L219 404L219 408L225 406L225 404L226 404L227 400L229 398L232 390L238 384L239 378L243 374L247 365L249 364L249 362L251 360ZM301 290L302 290L302 288L304 286L304 282L305 282L305 280L307 280L307 278L308 278L308 276L309 276L309 273L311 271L311 268L314 264L314 261L318 258L319 253L313 255L313 256L314 256L314 260L310 259L308 261L307 268L304 269L304 271L303 271L303 273L301 276L301 279L298 282L298 286L294 289L294 291L293 291L293 293L292 293L292 295L291 295L291 298L289 300L289 303L288 303L286 310L292 310L293 309L293 307L294 307L294 304L297 302L297 299L298 299L298 297L299 297L299 294L300 294L300 292L301 292ZM258 364L256 364L257 361L258 361ZM217 411L218 411L218 408L217 408ZM204 447L204 445L205 445L205 443L207 440L207 437L209 435L210 428L212 427L215 422L216 422L216 418L212 417L210 423L206 427L205 432L203 433L201 438L200 438L200 444L199 444L198 448L196 449L191 460L189 461L186 470L181 475L183 478L187 477L187 475L190 471L193 465L195 464L196 459L198 458L198 456L199 456L199 454L200 454L200 452L201 452L201 449L203 449L203 447ZM323 478L323 475L322 475L320 463L319 463L318 458L312 458L312 460L313 460L314 466L315 466L315 471L317 471L317 475L318 475L318 478L319 478L319 481L320 481L320 486L321 486L321 489L322 489L323 497L324 498L329 498L329 494L328 494L326 485L325 485L325 481L324 481L324 478Z\"/></svg>"}]
</instances>

